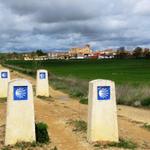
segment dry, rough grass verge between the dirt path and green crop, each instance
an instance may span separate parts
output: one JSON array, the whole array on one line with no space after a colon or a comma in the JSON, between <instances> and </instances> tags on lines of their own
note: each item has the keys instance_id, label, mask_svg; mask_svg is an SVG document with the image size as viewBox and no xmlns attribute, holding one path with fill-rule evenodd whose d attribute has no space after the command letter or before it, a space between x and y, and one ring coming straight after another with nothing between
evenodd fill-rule
<instances>
[{"instance_id":1,"label":"dry, rough grass verge between the dirt path and green crop","mask_svg":"<svg viewBox=\"0 0 150 150\"><path fill-rule=\"evenodd\" d=\"M13 70L28 74L35 78L36 69L24 69L17 66L3 64ZM71 97L79 99L80 103L88 104L88 81L72 76L60 77L49 72L49 83L57 90L68 93ZM117 103L135 107L150 107L150 85L149 84L116 84Z\"/></svg>"}]
</instances>

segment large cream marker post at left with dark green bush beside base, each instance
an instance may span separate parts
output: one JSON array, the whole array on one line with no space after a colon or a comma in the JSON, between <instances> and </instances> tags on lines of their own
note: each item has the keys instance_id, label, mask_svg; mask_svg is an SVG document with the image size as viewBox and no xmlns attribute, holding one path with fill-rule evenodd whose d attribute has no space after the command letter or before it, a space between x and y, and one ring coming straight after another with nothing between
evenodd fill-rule
<instances>
[{"instance_id":1,"label":"large cream marker post at left with dark green bush beside base","mask_svg":"<svg viewBox=\"0 0 150 150\"><path fill-rule=\"evenodd\" d=\"M35 141L32 85L23 79L9 82L5 145Z\"/></svg>"}]
</instances>

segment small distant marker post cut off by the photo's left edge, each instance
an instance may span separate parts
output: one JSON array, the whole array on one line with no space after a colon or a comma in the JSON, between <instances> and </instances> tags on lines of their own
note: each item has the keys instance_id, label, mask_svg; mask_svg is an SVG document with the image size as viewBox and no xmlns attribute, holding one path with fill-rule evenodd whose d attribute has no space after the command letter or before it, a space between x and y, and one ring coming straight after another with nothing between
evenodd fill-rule
<instances>
[{"instance_id":1,"label":"small distant marker post cut off by the photo's left edge","mask_svg":"<svg viewBox=\"0 0 150 150\"><path fill-rule=\"evenodd\" d=\"M0 70L0 98L7 97L9 81L10 81L9 70L8 69Z\"/></svg>"}]
</instances>

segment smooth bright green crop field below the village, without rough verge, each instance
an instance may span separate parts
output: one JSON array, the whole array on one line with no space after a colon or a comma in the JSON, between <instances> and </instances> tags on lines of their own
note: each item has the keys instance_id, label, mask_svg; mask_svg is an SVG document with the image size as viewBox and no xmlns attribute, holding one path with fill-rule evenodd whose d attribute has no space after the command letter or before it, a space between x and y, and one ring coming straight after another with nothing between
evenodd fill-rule
<instances>
[{"instance_id":1,"label":"smooth bright green crop field below the village, without rough verge","mask_svg":"<svg viewBox=\"0 0 150 150\"><path fill-rule=\"evenodd\" d=\"M49 61L7 61L7 64L28 68L45 68L58 76L72 76L79 79L110 79L116 83L150 83L150 60L49 60Z\"/></svg>"}]
</instances>

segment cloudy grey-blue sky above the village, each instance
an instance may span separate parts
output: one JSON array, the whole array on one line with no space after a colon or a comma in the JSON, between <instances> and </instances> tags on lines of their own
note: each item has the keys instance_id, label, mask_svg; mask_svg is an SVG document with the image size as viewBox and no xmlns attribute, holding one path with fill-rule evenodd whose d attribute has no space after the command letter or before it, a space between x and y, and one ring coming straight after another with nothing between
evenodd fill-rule
<instances>
[{"instance_id":1,"label":"cloudy grey-blue sky above the village","mask_svg":"<svg viewBox=\"0 0 150 150\"><path fill-rule=\"evenodd\" d=\"M0 0L0 52L150 47L150 0Z\"/></svg>"}]
</instances>

